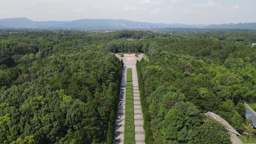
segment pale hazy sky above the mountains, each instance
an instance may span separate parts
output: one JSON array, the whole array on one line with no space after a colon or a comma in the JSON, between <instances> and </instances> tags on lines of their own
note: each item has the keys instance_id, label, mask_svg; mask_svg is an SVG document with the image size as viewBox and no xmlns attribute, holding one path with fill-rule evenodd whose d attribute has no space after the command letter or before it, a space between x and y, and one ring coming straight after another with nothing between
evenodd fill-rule
<instances>
[{"instance_id":1,"label":"pale hazy sky above the mountains","mask_svg":"<svg viewBox=\"0 0 256 144\"><path fill-rule=\"evenodd\" d=\"M0 0L0 19L127 19L182 24L256 22L256 0Z\"/></svg>"}]
</instances>

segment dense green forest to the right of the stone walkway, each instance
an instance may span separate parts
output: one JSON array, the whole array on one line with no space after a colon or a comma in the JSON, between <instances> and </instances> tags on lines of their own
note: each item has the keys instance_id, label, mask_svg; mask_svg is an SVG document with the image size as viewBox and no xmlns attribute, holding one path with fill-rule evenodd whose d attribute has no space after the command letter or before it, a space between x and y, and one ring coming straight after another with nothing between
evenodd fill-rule
<instances>
[{"instance_id":1,"label":"dense green forest to the right of the stone walkway","mask_svg":"<svg viewBox=\"0 0 256 144\"><path fill-rule=\"evenodd\" d=\"M220 126L202 116L207 111L244 131L243 102L256 99L255 34L200 32L146 40L150 61L141 61L140 68L153 143L224 143L216 131Z\"/></svg>"}]
</instances>

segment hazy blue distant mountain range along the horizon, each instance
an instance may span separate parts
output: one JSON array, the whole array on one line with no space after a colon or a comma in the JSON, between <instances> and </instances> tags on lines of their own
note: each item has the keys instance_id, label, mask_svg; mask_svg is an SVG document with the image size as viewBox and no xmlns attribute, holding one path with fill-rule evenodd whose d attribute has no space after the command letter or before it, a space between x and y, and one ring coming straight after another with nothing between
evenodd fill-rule
<instances>
[{"instance_id":1,"label":"hazy blue distant mountain range along the horizon","mask_svg":"<svg viewBox=\"0 0 256 144\"><path fill-rule=\"evenodd\" d=\"M150 28L216 28L256 30L256 23L188 25L136 22L124 19L79 19L76 21L32 21L28 18L0 19L0 28L73 28L73 29L150 29Z\"/></svg>"}]
</instances>

